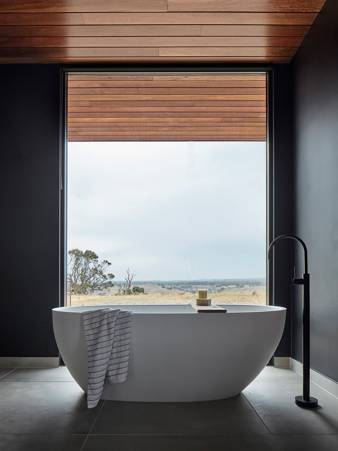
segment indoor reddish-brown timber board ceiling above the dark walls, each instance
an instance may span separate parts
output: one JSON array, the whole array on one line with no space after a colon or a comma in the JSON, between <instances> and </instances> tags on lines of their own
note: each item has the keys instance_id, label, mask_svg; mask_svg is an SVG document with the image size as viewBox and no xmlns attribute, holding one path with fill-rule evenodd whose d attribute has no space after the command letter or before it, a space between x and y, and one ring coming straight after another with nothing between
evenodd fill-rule
<instances>
[{"instance_id":1,"label":"indoor reddish-brown timber board ceiling above the dark walls","mask_svg":"<svg viewBox=\"0 0 338 451\"><path fill-rule=\"evenodd\" d=\"M2 0L0 63L288 63L324 0Z\"/></svg>"}]
</instances>

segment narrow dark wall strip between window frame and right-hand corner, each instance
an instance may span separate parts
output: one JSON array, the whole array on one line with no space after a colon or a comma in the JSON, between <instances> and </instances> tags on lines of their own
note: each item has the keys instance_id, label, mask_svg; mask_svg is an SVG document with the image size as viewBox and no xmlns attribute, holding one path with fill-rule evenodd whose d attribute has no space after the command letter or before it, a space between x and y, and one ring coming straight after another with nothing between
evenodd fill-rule
<instances>
[{"instance_id":1,"label":"narrow dark wall strip between window frame and right-hand corner","mask_svg":"<svg viewBox=\"0 0 338 451\"><path fill-rule=\"evenodd\" d=\"M272 92L271 92L272 91ZM272 184L273 215L272 229L269 241L280 235L291 232L291 155L292 155L292 78L289 64L274 64L272 83L269 87L269 97L272 94L272 109L269 126L273 127L269 133L269 145L273 162L270 171L273 171L270 184ZM291 263L290 241L280 241L274 249L273 258L273 304L286 307L287 317L282 339L275 357L287 357L291 353ZM271 283L270 277L270 283ZM270 303L271 304L271 303Z\"/></svg>"}]
</instances>

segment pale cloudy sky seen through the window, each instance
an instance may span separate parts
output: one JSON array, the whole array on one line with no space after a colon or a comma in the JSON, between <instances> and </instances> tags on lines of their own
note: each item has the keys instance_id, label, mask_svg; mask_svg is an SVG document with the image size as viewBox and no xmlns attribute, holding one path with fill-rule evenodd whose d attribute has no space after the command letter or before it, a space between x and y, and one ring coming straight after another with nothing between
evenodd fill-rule
<instances>
[{"instance_id":1,"label":"pale cloudy sky seen through the window","mask_svg":"<svg viewBox=\"0 0 338 451\"><path fill-rule=\"evenodd\" d=\"M265 143L68 143L67 246L123 280L265 277Z\"/></svg>"}]
</instances>

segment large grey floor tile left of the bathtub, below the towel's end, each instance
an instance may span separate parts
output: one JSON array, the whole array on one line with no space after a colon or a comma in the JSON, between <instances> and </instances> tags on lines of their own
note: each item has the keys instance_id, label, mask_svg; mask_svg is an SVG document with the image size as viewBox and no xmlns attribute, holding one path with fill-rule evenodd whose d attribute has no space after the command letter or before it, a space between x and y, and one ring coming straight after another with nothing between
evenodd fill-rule
<instances>
[{"instance_id":1,"label":"large grey floor tile left of the bathtub, below the towel's end","mask_svg":"<svg viewBox=\"0 0 338 451\"><path fill-rule=\"evenodd\" d=\"M87 409L76 382L0 382L0 433L86 434L102 403Z\"/></svg>"}]
</instances>

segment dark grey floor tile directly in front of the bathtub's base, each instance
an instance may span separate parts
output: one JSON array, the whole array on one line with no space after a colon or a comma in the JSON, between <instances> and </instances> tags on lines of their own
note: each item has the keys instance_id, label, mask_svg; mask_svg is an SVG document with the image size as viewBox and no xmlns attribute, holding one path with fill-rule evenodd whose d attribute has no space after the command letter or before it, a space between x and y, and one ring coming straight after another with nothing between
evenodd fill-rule
<instances>
[{"instance_id":1,"label":"dark grey floor tile directly in front of the bathtub's base","mask_svg":"<svg viewBox=\"0 0 338 451\"><path fill-rule=\"evenodd\" d=\"M269 434L243 395L218 401L105 401L93 434Z\"/></svg>"}]
</instances>

